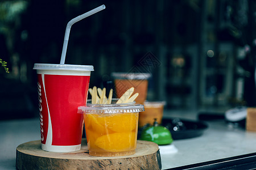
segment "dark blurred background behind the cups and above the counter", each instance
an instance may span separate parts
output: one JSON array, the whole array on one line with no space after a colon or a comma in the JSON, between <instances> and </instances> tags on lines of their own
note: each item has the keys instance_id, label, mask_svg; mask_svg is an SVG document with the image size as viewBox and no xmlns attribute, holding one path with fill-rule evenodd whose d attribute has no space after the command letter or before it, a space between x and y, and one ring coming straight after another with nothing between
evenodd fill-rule
<instances>
[{"instance_id":1,"label":"dark blurred background behind the cups and above the counter","mask_svg":"<svg viewBox=\"0 0 256 170\"><path fill-rule=\"evenodd\" d=\"M148 100L166 109L256 106L256 2L230 0L0 2L0 120L38 116L34 63L93 65L90 87L112 72L149 72Z\"/></svg>"}]
</instances>

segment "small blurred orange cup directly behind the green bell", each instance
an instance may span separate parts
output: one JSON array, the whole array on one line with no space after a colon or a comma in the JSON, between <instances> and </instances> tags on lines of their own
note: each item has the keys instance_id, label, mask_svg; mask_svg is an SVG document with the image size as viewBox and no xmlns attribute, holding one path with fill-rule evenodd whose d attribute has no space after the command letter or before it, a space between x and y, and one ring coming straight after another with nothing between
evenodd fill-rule
<instances>
[{"instance_id":1,"label":"small blurred orange cup directly behind the green bell","mask_svg":"<svg viewBox=\"0 0 256 170\"><path fill-rule=\"evenodd\" d=\"M139 113L139 128L142 128L147 124L153 125L155 119L158 124L161 124L163 118L164 104L166 104L165 101L145 101L145 111Z\"/></svg>"}]
</instances>

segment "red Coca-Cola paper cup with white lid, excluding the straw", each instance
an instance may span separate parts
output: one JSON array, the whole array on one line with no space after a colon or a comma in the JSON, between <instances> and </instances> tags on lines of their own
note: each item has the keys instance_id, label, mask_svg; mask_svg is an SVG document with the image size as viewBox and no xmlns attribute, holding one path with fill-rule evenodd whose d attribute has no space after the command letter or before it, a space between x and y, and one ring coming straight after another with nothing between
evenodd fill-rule
<instances>
[{"instance_id":1,"label":"red Coca-Cola paper cup with white lid, excluding the straw","mask_svg":"<svg viewBox=\"0 0 256 170\"><path fill-rule=\"evenodd\" d=\"M35 63L42 150L77 151L81 148L81 114L86 104L93 66Z\"/></svg>"}]
</instances>

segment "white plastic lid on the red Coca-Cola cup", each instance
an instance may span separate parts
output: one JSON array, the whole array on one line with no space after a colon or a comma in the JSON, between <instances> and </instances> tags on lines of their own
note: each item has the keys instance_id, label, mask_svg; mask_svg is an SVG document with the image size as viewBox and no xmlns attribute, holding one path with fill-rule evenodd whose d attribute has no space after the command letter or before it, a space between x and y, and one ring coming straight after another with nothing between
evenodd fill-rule
<instances>
[{"instance_id":1,"label":"white plastic lid on the red Coca-Cola cup","mask_svg":"<svg viewBox=\"0 0 256 170\"><path fill-rule=\"evenodd\" d=\"M61 64L49 64L49 63L35 63L34 68L36 70L76 70L76 71L94 71L93 66L88 65L61 65Z\"/></svg>"}]
</instances>

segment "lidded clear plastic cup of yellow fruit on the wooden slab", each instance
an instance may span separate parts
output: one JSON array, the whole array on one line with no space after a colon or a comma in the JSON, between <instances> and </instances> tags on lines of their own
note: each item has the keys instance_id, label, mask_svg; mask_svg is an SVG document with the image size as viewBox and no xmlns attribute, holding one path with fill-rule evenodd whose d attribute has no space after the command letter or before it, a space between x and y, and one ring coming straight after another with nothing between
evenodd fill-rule
<instances>
[{"instance_id":1,"label":"lidded clear plastic cup of yellow fruit on the wooden slab","mask_svg":"<svg viewBox=\"0 0 256 170\"><path fill-rule=\"evenodd\" d=\"M84 114L89 155L124 156L135 154L141 104L87 105Z\"/></svg>"}]
</instances>

